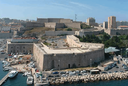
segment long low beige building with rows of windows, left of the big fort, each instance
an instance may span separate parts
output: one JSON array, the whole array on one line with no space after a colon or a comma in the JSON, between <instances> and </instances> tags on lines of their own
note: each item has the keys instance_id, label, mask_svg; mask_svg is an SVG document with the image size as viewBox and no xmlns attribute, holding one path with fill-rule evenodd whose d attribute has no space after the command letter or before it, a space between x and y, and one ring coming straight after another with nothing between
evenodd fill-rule
<instances>
[{"instance_id":1,"label":"long low beige building with rows of windows, left of the big fort","mask_svg":"<svg viewBox=\"0 0 128 86\"><path fill-rule=\"evenodd\" d=\"M37 42L37 39L8 39L6 52L8 54L31 54L33 53L33 43Z\"/></svg>"}]
</instances>

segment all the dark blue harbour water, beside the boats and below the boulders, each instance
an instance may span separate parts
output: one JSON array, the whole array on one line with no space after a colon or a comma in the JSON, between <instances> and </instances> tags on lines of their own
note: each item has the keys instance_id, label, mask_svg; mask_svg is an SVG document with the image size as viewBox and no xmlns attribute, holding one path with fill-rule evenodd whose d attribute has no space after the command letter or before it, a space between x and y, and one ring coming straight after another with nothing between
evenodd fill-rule
<instances>
[{"instance_id":1,"label":"all the dark blue harbour water, beside the boats and below the boulders","mask_svg":"<svg viewBox=\"0 0 128 86\"><path fill-rule=\"evenodd\" d=\"M0 61L0 80L8 73L8 71L3 71L2 62ZM19 73L13 79L7 79L7 81L2 86L27 86L27 77L23 77L22 73ZM33 86L33 85L29 85ZM112 80L112 81L97 81L89 83L73 83L73 84L62 84L59 86L128 86L127 80Z\"/></svg>"}]
</instances>

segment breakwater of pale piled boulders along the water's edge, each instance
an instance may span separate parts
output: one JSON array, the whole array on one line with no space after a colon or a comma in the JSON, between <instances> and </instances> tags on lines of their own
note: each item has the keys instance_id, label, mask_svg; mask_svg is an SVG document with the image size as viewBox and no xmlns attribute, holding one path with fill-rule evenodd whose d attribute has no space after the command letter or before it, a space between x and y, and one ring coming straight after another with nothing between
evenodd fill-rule
<instances>
[{"instance_id":1,"label":"breakwater of pale piled boulders along the water's edge","mask_svg":"<svg viewBox=\"0 0 128 86\"><path fill-rule=\"evenodd\" d=\"M123 80L128 79L128 72L122 73L110 73L110 74L96 74L96 75L84 75L84 76L68 76L58 79L51 78L49 83L51 85L60 85L66 83L88 83L95 81L109 81L109 80Z\"/></svg>"}]
</instances>

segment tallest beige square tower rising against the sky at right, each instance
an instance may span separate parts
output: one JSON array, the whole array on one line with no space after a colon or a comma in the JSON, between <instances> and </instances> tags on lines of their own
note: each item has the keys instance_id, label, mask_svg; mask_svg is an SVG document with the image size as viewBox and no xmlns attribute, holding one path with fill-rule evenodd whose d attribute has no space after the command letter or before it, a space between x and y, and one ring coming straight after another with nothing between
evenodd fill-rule
<instances>
[{"instance_id":1,"label":"tallest beige square tower rising against the sky at right","mask_svg":"<svg viewBox=\"0 0 128 86\"><path fill-rule=\"evenodd\" d=\"M116 17L110 16L108 17L108 29L115 29L116 28Z\"/></svg>"}]
</instances>

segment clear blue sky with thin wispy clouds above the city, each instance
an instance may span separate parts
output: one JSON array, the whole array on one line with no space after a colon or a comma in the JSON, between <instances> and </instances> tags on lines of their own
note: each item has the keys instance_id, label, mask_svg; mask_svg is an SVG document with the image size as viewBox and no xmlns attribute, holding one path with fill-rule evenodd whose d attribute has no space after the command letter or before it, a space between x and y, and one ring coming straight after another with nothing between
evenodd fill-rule
<instances>
[{"instance_id":1,"label":"clear blue sky with thin wispy clouds above the city","mask_svg":"<svg viewBox=\"0 0 128 86\"><path fill-rule=\"evenodd\" d=\"M116 16L128 21L128 0L0 0L0 18L36 20L37 18L70 18L86 22L93 17L97 23Z\"/></svg>"}]
</instances>

